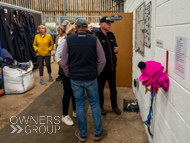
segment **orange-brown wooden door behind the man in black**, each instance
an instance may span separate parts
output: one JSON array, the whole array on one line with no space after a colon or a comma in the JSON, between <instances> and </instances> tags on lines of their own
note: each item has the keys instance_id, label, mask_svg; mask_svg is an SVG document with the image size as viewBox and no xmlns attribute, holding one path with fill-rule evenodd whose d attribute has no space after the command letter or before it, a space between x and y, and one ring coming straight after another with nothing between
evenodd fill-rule
<instances>
[{"instance_id":1,"label":"orange-brown wooden door behind the man in black","mask_svg":"<svg viewBox=\"0 0 190 143\"><path fill-rule=\"evenodd\" d=\"M119 15L122 19L111 25L111 32L114 33L119 47L116 67L116 86L132 86L132 32L133 13L102 13L104 16Z\"/></svg>"}]
</instances>

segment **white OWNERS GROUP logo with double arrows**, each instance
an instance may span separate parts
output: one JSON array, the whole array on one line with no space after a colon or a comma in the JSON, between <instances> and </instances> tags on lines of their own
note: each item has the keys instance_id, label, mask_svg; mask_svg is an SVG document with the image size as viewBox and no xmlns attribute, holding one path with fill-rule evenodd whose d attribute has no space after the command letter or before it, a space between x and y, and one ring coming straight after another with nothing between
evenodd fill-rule
<instances>
[{"instance_id":1,"label":"white OWNERS GROUP logo with double arrows","mask_svg":"<svg viewBox=\"0 0 190 143\"><path fill-rule=\"evenodd\" d=\"M60 130L60 116L11 116L11 134L56 134Z\"/></svg>"}]
</instances>

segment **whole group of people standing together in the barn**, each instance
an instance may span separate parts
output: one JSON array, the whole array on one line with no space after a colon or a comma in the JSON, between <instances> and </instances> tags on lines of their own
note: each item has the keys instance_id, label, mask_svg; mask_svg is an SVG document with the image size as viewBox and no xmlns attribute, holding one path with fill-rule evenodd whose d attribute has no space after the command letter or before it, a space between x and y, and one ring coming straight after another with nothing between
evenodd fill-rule
<instances>
[{"instance_id":1,"label":"whole group of people standing together in the barn","mask_svg":"<svg viewBox=\"0 0 190 143\"><path fill-rule=\"evenodd\" d=\"M80 141L86 141L87 134L85 90L92 110L95 140L99 141L107 136L107 131L102 129L101 119L101 114L106 115L103 107L106 81L110 88L112 109L117 115L121 114L117 106L116 90L118 45L114 34L110 32L112 22L107 16L101 18L100 29L95 33L89 31L91 27L88 27L85 18L77 18L74 23L65 20L57 28L55 61L59 65L58 78L62 80L64 88L62 121L66 125L74 124L68 114L72 97L72 116L77 117L79 126L75 136ZM44 60L49 80L53 81L50 54L54 43L51 35L46 34L45 26L40 25L38 30L39 34L35 36L33 47L38 56L40 84L44 84Z\"/></svg>"}]
</instances>

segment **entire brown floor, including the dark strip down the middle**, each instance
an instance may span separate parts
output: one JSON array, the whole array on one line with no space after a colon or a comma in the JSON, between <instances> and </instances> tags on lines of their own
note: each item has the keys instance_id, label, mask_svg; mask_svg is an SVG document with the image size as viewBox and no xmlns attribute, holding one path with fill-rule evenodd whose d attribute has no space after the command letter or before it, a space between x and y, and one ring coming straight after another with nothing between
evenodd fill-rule
<instances>
[{"instance_id":1,"label":"entire brown floor, including the dark strip down the middle","mask_svg":"<svg viewBox=\"0 0 190 143\"><path fill-rule=\"evenodd\" d=\"M58 66L52 64L53 77L57 77ZM46 71L46 69L45 69ZM0 97L0 141L4 143L74 143L80 142L74 136L77 129L77 120L75 125L66 126L60 122L60 130L56 134L35 134L30 135L22 132L21 134L10 134L13 130L10 127L11 116L60 116L62 110L62 84L60 82L46 82L45 85L39 85L38 70L34 71L35 88L21 95L6 95ZM45 76L47 78L47 75ZM118 87L118 106L123 109L123 99L135 99L132 89ZM93 121L90 106L87 104L88 134L87 143L94 143ZM111 110L109 89L105 89L105 110L106 116L102 116L103 128L108 131L108 136L100 143L148 143L144 124L138 113L123 112L121 115L115 115ZM71 104L69 114L71 114ZM14 120L13 120L14 121ZM23 127L24 125L20 125ZM23 127L24 128L24 127Z\"/></svg>"}]
</instances>

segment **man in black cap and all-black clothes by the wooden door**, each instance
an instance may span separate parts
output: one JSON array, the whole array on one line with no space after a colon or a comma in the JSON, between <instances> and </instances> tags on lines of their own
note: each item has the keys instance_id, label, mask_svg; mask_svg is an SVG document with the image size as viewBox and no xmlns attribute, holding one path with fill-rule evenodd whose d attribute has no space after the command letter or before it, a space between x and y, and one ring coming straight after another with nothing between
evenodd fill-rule
<instances>
[{"instance_id":1,"label":"man in black cap and all-black clothes by the wooden door","mask_svg":"<svg viewBox=\"0 0 190 143\"><path fill-rule=\"evenodd\" d=\"M99 100L101 107L101 114L106 115L106 111L103 108L104 105L104 86L106 80L108 81L110 94L111 94L111 104L113 111L120 115L121 111L117 107L117 90L116 90L116 63L118 53L118 46L115 39L115 36L110 32L111 23L109 17L103 17L100 19L100 29L96 32L96 36L100 40L102 47L106 56L106 65L102 73L98 76L98 88L99 88Z\"/></svg>"}]
</instances>

